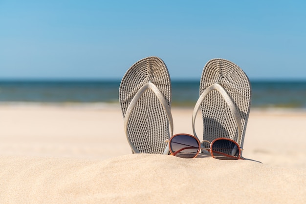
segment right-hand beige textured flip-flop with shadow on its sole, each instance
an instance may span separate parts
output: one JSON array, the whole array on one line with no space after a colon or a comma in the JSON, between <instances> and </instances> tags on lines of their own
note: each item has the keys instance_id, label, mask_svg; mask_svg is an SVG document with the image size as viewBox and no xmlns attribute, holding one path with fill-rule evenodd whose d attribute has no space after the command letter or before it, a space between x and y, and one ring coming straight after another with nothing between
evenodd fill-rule
<instances>
[{"instance_id":1,"label":"right-hand beige textured flip-flop with shadow on its sole","mask_svg":"<svg viewBox=\"0 0 306 204\"><path fill-rule=\"evenodd\" d=\"M242 69L231 61L213 59L204 66L200 97L193 112L194 135L197 112L201 107L203 140L229 138L243 146L250 112L251 85ZM204 144L208 147L209 144Z\"/></svg>"}]
</instances>

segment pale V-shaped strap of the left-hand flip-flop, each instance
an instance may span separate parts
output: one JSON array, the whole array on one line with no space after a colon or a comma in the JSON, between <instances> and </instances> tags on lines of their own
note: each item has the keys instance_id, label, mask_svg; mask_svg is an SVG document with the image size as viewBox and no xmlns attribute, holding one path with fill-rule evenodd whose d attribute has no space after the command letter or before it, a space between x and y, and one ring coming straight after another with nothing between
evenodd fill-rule
<instances>
[{"instance_id":1,"label":"pale V-shaped strap of the left-hand flip-flop","mask_svg":"<svg viewBox=\"0 0 306 204\"><path fill-rule=\"evenodd\" d=\"M126 114L124 116L124 130L125 130L125 134L127 136L128 142L131 146L131 149L132 149L133 153L140 153L140 151L136 148L136 146L133 143L131 143L131 140L128 137L128 122L129 122L129 119L131 117L131 113L132 113L133 108L135 107L135 105L137 104L139 99L141 98L142 94L148 89L151 89L154 92L154 94L158 98L159 102L164 107L164 110L167 114L168 121L169 121L169 127L170 127L169 128L170 129L169 133L170 133L170 136L173 135L173 119L172 119L172 114L171 114L171 110L170 110L170 107L168 105L168 102L166 101L164 94L157 88L157 86L154 83L152 83L151 81L149 81L148 83L144 84L137 91L137 93L135 94L135 96L131 100L130 105L129 105L129 107L126 111ZM168 148L168 146L167 146L167 148ZM166 148L166 150L167 150L167 148ZM168 153L166 153L166 150L165 150L164 154L168 154ZM169 152L169 148L168 148L168 152Z\"/></svg>"}]
</instances>

